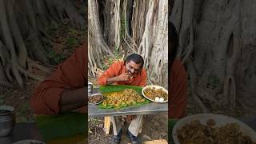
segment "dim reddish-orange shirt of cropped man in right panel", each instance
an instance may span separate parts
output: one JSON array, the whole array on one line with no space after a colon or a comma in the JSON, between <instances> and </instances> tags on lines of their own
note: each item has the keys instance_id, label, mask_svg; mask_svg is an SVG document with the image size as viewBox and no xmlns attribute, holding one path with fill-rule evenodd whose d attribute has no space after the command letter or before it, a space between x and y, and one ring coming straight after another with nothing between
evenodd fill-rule
<instances>
[{"instance_id":1,"label":"dim reddish-orange shirt of cropped man in right panel","mask_svg":"<svg viewBox=\"0 0 256 144\"><path fill-rule=\"evenodd\" d=\"M186 114L188 93L186 70L179 59L174 60L169 81L171 83L168 86L170 94L168 118L182 118Z\"/></svg>"}]
</instances>

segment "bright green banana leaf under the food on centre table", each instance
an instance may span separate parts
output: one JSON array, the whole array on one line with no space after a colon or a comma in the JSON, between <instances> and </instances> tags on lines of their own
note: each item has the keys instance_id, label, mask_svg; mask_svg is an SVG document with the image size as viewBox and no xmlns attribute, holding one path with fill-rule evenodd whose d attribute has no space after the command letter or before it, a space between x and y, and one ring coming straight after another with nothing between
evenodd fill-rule
<instances>
[{"instance_id":1,"label":"bright green banana leaf under the food on centre table","mask_svg":"<svg viewBox=\"0 0 256 144\"><path fill-rule=\"evenodd\" d=\"M126 90L126 89L133 89L138 94L142 95L142 88L143 88L142 86L110 85L110 86L100 86L99 90L101 90L102 94L108 94L108 93L113 93L113 92L120 92L120 91ZM145 102L136 102L136 103L130 105L129 107L142 106L149 102L150 102L150 100L146 99ZM111 106L111 105L103 106L102 103L99 104L98 107L101 109L113 109L114 108L114 106ZM127 105L123 104L123 105L118 106L116 109L121 109L121 108L126 108L126 107L127 107Z\"/></svg>"}]
</instances>

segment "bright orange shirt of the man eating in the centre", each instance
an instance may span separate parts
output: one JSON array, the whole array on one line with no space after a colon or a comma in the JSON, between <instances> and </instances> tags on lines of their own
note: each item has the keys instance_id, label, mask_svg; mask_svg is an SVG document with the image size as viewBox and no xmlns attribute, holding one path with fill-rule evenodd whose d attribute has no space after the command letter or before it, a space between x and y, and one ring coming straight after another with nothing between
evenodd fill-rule
<instances>
[{"instance_id":1,"label":"bright orange shirt of the man eating in the centre","mask_svg":"<svg viewBox=\"0 0 256 144\"><path fill-rule=\"evenodd\" d=\"M125 73L126 66L124 65L124 61L115 62L107 69L102 75L98 78L98 85L106 86L106 79L117 77L120 74ZM146 70L142 68L141 72L134 75L134 78L124 81L124 82L116 82L118 85L133 85L133 86L146 86Z\"/></svg>"}]
</instances>

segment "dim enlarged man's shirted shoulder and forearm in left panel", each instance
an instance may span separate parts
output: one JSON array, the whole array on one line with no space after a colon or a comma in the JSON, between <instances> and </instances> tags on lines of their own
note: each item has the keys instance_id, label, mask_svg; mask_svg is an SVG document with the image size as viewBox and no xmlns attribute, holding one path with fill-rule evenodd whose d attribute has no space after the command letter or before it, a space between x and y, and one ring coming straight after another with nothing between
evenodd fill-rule
<instances>
[{"instance_id":1,"label":"dim enlarged man's shirted shoulder and forearm in left panel","mask_svg":"<svg viewBox=\"0 0 256 144\"><path fill-rule=\"evenodd\" d=\"M77 110L86 113L87 105L87 43L58 66L54 73L40 83L30 98L37 115L53 115Z\"/></svg>"}]
</instances>

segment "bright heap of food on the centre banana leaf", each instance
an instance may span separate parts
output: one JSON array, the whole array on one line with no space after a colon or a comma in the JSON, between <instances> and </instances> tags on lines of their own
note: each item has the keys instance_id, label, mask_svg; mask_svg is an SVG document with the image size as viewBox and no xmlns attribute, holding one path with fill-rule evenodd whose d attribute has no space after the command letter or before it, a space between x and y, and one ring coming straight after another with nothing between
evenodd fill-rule
<instances>
[{"instance_id":1,"label":"bright heap of food on the centre banana leaf","mask_svg":"<svg viewBox=\"0 0 256 144\"><path fill-rule=\"evenodd\" d=\"M126 89L122 92L114 92L110 94L104 94L104 101L102 102L103 106L113 106L118 108L120 106L130 106L136 104L137 102L145 102L146 99L142 98L133 89Z\"/></svg>"}]
</instances>

